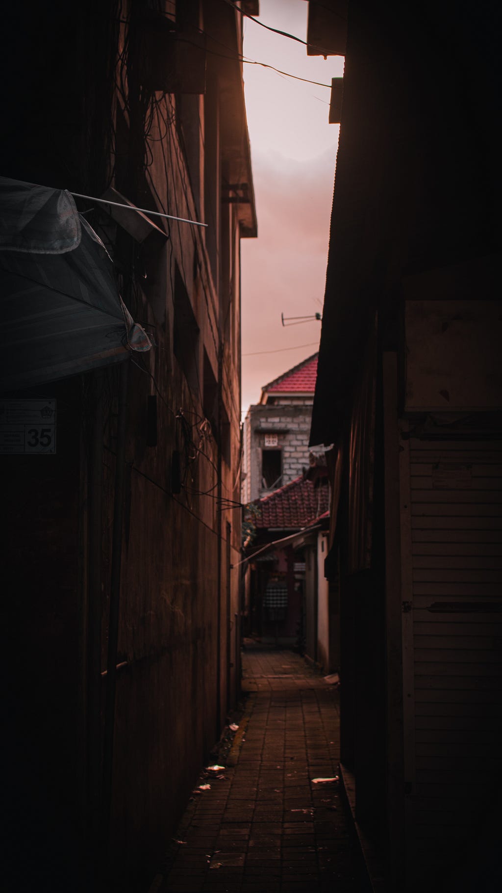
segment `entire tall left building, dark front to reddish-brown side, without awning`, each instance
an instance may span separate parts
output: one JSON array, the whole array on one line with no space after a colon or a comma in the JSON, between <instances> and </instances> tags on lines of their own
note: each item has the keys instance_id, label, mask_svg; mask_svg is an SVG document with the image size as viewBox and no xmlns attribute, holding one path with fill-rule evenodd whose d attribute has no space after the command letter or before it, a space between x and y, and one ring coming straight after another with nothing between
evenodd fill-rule
<instances>
[{"instance_id":1,"label":"entire tall left building, dark front to reddish-brown side, without awning","mask_svg":"<svg viewBox=\"0 0 502 893\"><path fill-rule=\"evenodd\" d=\"M147 889L238 691L239 245L257 231L242 16L31 6L4 29L2 172L90 196L73 210L151 349L133 354L124 324L113 365L20 387L14 348L6 364L3 401L57 406L56 452L3 456L6 886L22 862L27 889ZM10 297L13 345L29 311Z\"/></svg>"}]
</instances>

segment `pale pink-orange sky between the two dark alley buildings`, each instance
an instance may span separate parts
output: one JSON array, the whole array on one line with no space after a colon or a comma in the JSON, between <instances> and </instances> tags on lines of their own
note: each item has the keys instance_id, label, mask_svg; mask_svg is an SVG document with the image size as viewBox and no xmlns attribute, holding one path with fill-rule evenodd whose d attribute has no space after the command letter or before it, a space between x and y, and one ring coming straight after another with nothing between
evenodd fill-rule
<instances>
[{"instance_id":1,"label":"pale pink-orange sky between the two dark alley buildings","mask_svg":"<svg viewBox=\"0 0 502 893\"><path fill-rule=\"evenodd\" d=\"M259 21L307 39L306 0L260 0ZM331 84L343 59L244 18L244 55L300 78ZM284 316L320 313L339 127L328 124L330 90L244 64L258 238L243 239L243 410L260 388L315 353L321 324L283 327ZM289 349L289 348L295 349ZM288 349L285 349L288 348ZM262 353L264 352L264 353Z\"/></svg>"}]
</instances>

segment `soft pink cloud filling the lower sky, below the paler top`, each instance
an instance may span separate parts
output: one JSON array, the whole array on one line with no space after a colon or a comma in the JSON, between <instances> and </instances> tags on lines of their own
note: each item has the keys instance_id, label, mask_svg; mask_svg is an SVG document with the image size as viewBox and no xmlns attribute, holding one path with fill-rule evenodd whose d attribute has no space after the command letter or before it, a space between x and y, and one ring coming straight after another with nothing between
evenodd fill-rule
<instances>
[{"instance_id":1,"label":"soft pink cloud filling the lower sky, below the paler top","mask_svg":"<svg viewBox=\"0 0 502 893\"><path fill-rule=\"evenodd\" d=\"M253 158L259 237L241 243L243 265L243 405L261 385L315 352L318 321L284 328L284 316L322 310L335 147L311 163L279 154ZM277 353L275 353L277 351Z\"/></svg>"}]
</instances>

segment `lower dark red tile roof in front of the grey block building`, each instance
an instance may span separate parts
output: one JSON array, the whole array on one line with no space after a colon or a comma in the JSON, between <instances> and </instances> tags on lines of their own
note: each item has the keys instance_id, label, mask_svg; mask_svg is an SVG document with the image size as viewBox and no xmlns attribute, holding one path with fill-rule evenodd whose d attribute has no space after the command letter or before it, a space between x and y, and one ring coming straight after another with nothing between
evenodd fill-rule
<instances>
[{"instance_id":1,"label":"lower dark red tile roof in front of the grey block building","mask_svg":"<svg viewBox=\"0 0 502 893\"><path fill-rule=\"evenodd\" d=\"M284 484L266 497L255 499L259 509L255 524L258 528L307 527L328 510L328 488L317 487L302 477Z\"/></svg>"}]
</instances>

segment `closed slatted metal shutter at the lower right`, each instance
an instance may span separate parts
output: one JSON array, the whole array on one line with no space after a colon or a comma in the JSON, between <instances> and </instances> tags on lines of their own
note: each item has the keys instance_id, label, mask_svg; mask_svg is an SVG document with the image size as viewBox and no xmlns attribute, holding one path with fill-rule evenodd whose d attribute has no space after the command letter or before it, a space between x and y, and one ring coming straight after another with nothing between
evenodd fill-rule
<instances>
[{"instance_id":1,"label":"closed slatted metal shutter at the lower right","mask_svg":"<svg viewBox=\"0 0 502 893\"><path fill-rule=\"evenodd\" d=\"M472 850L502 771L502 443L404 443L408 866L423 889Z\"/></svg>"}]
</instances>

